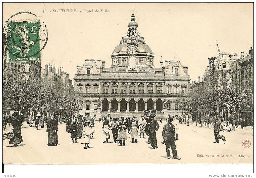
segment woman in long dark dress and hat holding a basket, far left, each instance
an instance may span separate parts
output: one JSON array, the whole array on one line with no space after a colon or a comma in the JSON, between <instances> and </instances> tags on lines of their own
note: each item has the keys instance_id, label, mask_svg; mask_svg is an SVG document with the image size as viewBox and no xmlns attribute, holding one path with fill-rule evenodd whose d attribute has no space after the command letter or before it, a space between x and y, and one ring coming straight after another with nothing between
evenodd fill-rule
<instances>
[{"instance_id":1,"label":"woman in long dark dress and hat holding a basket, far left","mask_svg":"<svg viewBox=\"0 0 256 178\"><path fill-rule=\"evenodd\" d=\"M9 144L14 144L14 146L17 147L18 144L23 142L22 136L21 136L22 122L21 122L21 119L19 118L18 112L14 112L12 116L14 116L14 120L12 122L12 125L13 125L12 130L14 132L14 137L10 139Z\"/></svg>"}]
</instances>

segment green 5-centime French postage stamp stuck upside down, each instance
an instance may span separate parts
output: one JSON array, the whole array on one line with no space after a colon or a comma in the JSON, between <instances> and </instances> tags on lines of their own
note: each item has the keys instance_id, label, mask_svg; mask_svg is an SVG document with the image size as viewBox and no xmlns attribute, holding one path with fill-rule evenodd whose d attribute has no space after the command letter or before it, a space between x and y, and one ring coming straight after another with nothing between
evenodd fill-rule
<instances>
[{"instance_id":1,"label":"green 5-centime French postage stamp stuck upside down","mask_svg":"<svg viewBox=\"0 0 256 178\"><path fill-rule=\"evenodd\" d=\"M40 61L40 22L7 22L8 62Z\"/></svg>"}]
</instances>

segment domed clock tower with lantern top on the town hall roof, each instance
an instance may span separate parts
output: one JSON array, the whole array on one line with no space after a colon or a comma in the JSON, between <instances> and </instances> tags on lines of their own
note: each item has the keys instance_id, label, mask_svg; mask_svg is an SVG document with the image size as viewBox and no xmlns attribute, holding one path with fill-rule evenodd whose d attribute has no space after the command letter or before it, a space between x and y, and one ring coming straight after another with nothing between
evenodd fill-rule
<instances>
[{"instance_id":1,"label":"domed clock tower with lantern top on the town hall roof","mask_svg":"<svg viewBox=\"0 0 256 178\"><path fill-rule=\"evenodd\" d=\"M145 67L154 68L154 54L146 45L144 38L138 33L138 24L135 22L135 15L131 15L131 22L128 24L128 32L112 55L111 68L126 70L138 70Z\"/></svg>"}]
</instances>

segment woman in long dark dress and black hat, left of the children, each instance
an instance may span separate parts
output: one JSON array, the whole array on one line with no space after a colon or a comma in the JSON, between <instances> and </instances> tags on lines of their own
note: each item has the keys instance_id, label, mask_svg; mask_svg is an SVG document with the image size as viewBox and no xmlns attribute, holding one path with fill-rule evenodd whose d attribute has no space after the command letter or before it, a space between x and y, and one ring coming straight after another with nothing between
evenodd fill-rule
<instances>
[{"instance_id":1,"label":"woman in long dark dress and black hat, left of the children","mask_svg":"<svg viewBox=\"0 0 256 178\"><path fill-rule=\"evenodd\" d=\"M54 112L54 118L51 120L49 124L49 132L48 132L48 146L56 146L58 145L58 116L60 115L58 111Z\"/></svg>"}]
</instances>

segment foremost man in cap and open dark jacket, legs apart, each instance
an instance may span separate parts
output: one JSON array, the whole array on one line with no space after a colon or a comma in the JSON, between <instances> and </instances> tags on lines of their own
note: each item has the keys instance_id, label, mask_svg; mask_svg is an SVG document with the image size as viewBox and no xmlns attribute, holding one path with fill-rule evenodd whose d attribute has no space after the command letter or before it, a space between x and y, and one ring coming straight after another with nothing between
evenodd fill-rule
<instances>
[{"instance_id":1,"label":"foremost man in cap and open dark jacket, legs apart","mask_svg":"<svg viewBox=\"0 0 256 178\"><path fill-rule=\"evenodd\" d=\"M170 147L172 149L173 158L181 159L177 156L177 150L176 150L176 145L175 145L175 136L174 136L175 131L174 131L174 125L172 124L173 118L168 117L167 121L168 121L168 123L164 125L163 132L162 132L164 143L166 146L166 156L168 157L167 159L171 159Z\"/></svg>"}]
</instances>

